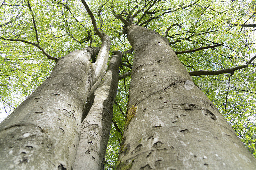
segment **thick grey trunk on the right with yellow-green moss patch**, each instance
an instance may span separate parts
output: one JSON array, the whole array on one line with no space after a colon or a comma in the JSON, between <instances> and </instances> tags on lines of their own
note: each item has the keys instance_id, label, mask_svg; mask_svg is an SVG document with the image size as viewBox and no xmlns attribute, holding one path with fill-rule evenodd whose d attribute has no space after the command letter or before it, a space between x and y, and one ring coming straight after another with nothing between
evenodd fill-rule
<instances>
[{"instance_id":1,"label":"thick grey trunk on the right with yellow-green moss patch","mask_svg":"<svg viewBox=\"0 0 256 170\"><path fill-rule=\"evenodd\" d=\"M127 32L135 55L117 169L256 169L163 37L137 25Z\"/></svg>"}]
</instances>

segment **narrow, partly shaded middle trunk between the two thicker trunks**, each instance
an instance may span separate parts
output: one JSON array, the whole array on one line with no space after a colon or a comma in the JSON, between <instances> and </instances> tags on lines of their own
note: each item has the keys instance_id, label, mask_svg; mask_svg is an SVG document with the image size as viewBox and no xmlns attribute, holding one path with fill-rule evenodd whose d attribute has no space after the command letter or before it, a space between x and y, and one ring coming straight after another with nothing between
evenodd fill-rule
<instances>
[{"instance_id":1,"label":"narrow, partly shaded middle trunk between the two thicker trunks","mask_svg":"<svg viewBox=\"0 0 256 170\"><path fill-rule=\"evenodd\" d=\"M97 170L104 167L121 57L122 53L117 51L111 57L100 86L87 100L74 170Z\"/></svg>"}]
</instances>

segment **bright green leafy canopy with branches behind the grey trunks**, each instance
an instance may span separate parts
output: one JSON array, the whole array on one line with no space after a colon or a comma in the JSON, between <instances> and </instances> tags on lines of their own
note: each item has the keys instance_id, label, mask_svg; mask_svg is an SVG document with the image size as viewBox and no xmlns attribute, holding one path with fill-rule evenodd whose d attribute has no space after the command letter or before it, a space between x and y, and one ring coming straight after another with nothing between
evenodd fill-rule
<instances>
[{"instance_id":1,"label":"bright green leafy canopy with branches behind the grey trunks","mask_svg":"<svg viewBox=\"0 0 256 170\"><path fill-rule=\"evenodd\" d=\"M124 53L119 76L124 75L106 153L108 168L117 161L134 54L121 16L168 39L196 88L216 105L256 157L255 0L86 2L99 30L111 39L110 51ZM2 0L0 4L0 99L1 114L7 116L50 75L58 58L100 46L101 40L81 1Z\"/></svg>"}]
</instances>

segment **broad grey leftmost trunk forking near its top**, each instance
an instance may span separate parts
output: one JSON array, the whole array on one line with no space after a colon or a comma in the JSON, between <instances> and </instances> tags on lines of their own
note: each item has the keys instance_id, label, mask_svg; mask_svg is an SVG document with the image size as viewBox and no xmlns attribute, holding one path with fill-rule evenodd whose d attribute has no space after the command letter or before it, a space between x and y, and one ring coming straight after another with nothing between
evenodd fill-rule
<instances>
[{"instance_id":1,"label":"broad grey leftmost trunk forking near its top","mask_svg":"<svg viewBox=\"0 0 256 170\"><path fill-rule=\"evenodd\" d=\"M58 61L51 75L0 124L0 167L71 169L84 104L100 72L106 71L109 49L106 36L101 48L76 50ZM89 60L97 53L92 64Z\"/></svg>"}]
</instances>

